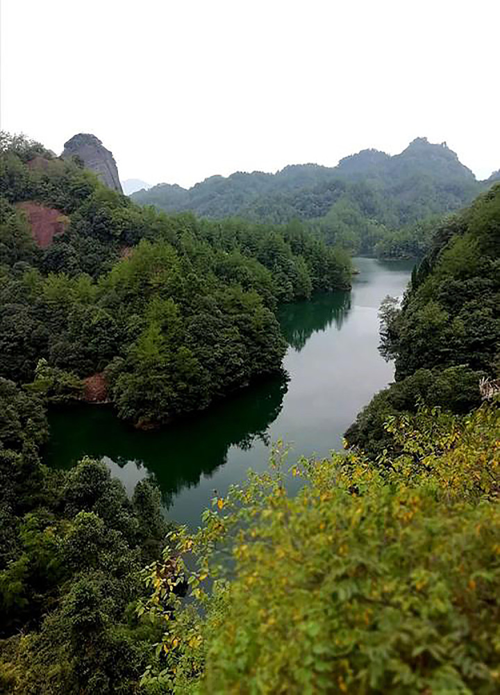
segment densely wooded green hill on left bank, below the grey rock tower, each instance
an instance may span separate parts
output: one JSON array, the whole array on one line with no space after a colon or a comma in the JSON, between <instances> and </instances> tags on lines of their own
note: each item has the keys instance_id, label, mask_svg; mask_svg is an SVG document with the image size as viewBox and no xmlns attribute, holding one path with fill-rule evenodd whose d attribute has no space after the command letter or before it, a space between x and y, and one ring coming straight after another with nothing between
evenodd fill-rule
<instances>
[{"instance_id":1,"label":"densely wooded green hill on left bank, below the grey rock tower","mask_svg":"<svg viewBox=\"0 0 500 695\"><path fill-rule=\"evenodd\" d=\"M158 213L37 143L2 147L0 376L49 398L105 372L142 427L203 409L281 368L279 302L350 285L347 255L298 222ZM58 211L64 233L36 247L23 201Z\"/></svg>"}]
</instances>

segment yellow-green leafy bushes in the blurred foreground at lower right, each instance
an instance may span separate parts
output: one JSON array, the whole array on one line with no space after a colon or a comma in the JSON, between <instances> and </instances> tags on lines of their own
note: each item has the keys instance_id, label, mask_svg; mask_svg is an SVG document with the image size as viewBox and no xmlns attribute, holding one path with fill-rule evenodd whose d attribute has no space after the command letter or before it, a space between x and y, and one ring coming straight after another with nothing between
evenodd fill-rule
<instances>
[{"instance_id":1,"label":"yellow-green leafy bushes in the blurred foreground at lower right","mask_svg":"<svg viewBox=\"0 0 500 695\"><path fill-rule=\"evenodd\" d=\"M176 532L193 602L151 567L176 693L494 693L500 687L500 411L392 419L399 457L303 461ZM189 568L189 569L188 569ZM172 619L175 615L175 619ZM161 649L162 646L159 646Z\"/></svg>"}]
</instances>

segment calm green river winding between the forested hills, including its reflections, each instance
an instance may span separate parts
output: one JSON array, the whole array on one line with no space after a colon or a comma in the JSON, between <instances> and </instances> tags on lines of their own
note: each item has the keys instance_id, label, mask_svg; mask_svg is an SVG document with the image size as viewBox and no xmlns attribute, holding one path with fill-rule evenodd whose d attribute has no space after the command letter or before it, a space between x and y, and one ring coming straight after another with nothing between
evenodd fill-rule
<instances>
[{"instance_id":1,"label":"calm green river winding between the forested hills, including its reflections","mask_svg":"<svg viewBox=\"0 0 500 695\"><path fill-rule=\"evenodd\" d=\"M49 464L69 468L83 455L103 459L128 491L153 477L167 515L198 525L214 490L224 494L249 468L267 466L269 443L291 444L291 459L340 448L358 411L392 379L392 364L377 350L378 306L386 295L401 295L412 268L408 261L355 264L360 273L351 292L281 309L288 378L254 384L160 432L135 431L104 406L53 411Z\"/></svg>"}]
</instances>

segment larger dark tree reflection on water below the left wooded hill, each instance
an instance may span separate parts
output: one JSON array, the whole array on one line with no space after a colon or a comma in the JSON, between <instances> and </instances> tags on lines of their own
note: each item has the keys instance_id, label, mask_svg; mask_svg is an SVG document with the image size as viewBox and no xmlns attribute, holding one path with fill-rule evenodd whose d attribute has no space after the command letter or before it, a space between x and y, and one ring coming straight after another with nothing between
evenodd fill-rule
<instances>
[{"instance_id":1,"label":"larger dark tree reflection on water below the left wooded hill","mask_svg":"<svg viewBox=\"0 0 500 695\"><path fill-rule=\"evenodd\" d=\"M169 505L183 487L197 485L202 474L212 474L226 463L232 445L249 448L256 439L266 441L267 429L281 411L287 382L284 373L274 375L158 432L133 430L106 407L54 411L47 457L62 468L84 455L107 456L119 466L135 461L156 478Z\"/></svg>"}]
</instances>

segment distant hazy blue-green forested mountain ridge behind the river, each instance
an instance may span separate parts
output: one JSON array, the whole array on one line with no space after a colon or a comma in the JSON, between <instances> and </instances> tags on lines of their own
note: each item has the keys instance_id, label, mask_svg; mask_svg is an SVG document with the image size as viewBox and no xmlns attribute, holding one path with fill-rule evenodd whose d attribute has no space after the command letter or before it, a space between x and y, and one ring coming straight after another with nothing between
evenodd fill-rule
<instances>
[{"instance_id":1,"label":"distant hazy blue-green forested mountain ridge behind the river","mask_svg":"<svg viewBox=\"0 0 500 695\"><path fill-rule=\"evenodd\" d=\"M444 143L417 138L392 157L369 149L333 168L306 164L276 174L237 172L189 190L160 183L133 199L208 218L239 215L272 223L298 218L327 243L353 254L394 258L422 256L433 218L462 208L486 185Z\"/></svg>"}]
</instances>

